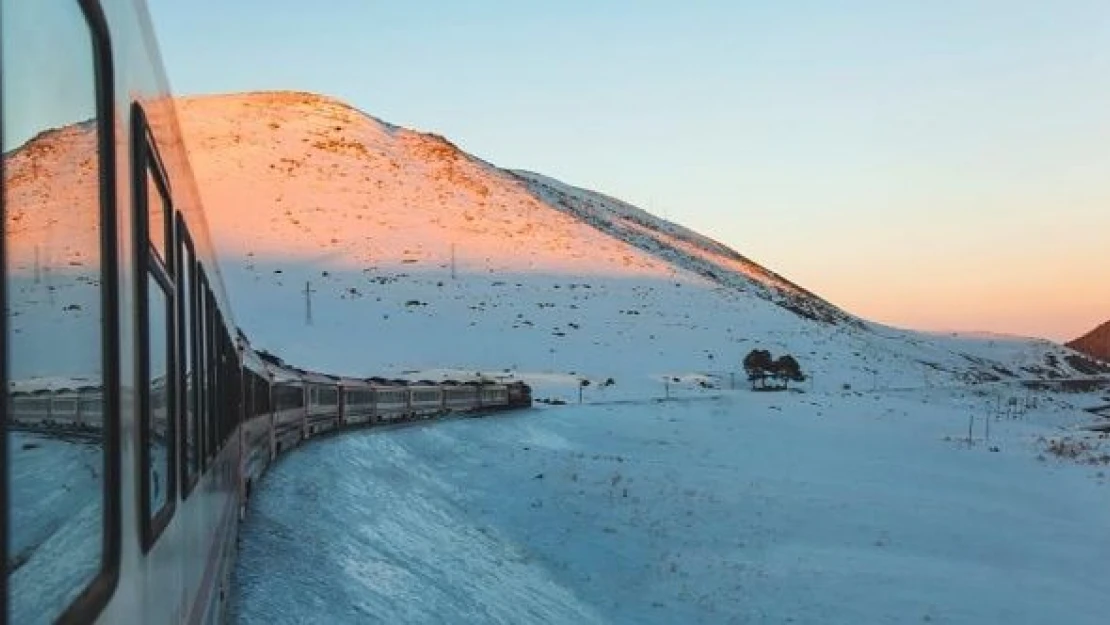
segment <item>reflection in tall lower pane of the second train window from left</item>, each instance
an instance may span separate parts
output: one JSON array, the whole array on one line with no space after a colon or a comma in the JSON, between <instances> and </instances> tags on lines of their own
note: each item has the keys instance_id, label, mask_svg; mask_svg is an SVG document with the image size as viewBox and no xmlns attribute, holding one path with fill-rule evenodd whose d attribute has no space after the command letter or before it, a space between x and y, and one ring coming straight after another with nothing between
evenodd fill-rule
<instances>
[{"instance_id":1,"label":"reflection in tall lower pane of the second train window from left","mask_svg":"<svg viewBox=\"0 0 1110 625\"><path fill-rule=\"evenodd\" d=\"M147 470L150 478L148 514L153 517L168 502L170 490L169 440L170 434L170 300L159 280L150 274L147 283L149 397Z\"/></svg>"}]
</instances>

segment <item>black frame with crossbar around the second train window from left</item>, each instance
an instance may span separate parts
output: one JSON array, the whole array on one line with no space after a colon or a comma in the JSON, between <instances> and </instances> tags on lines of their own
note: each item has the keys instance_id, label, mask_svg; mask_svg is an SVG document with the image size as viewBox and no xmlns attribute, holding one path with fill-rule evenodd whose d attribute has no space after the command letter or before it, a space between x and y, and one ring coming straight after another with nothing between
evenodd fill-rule
<instances>
[{"instance_id":1,"label":"black frame with crossbar around the second train window from left","mask_svg":"<svg viewBox=\"0 0 1110 625\"><path fill-rule=\"evenodd\" d=\"M154 189L150 189L150 183ZM175 254L165 242L169 228L169 215L173 214L173 200L170 191L165 165L158 152L158 147L151 133L147 114L138 102L131 104L131 212L133 220L132 248L134 252L134 293L135 293L135 390L139 401L138 411L138 466L140 538L143 553L148 553L165 531L176 510L176 370L178 354L175 349L175 312L176 286L174 283L173 262ZM150 223L151 200L161 201L161 224ZM162 231L162 252L155 249L151 236L152 228ZM163 314L165 315L165 496L164 503L158 510L151 510L150 480L150 444L151 420L151 285L157 283L162 291Z\"/></svg>"}]
</instances>

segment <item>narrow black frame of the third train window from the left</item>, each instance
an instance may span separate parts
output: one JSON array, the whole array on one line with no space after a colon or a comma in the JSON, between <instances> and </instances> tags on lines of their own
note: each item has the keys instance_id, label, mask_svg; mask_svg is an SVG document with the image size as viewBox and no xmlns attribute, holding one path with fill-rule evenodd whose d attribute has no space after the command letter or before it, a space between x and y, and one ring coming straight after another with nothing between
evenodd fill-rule
<instances>
[{"instance_id":1,"label":"narrow black frame of the third train window from the left","mask_svg":"<svg viewBox=\"0 0 1110 625\"><path fill-rule=\"evenodd\" d=\"M184 377L189 373L189 367L181 366L178 374L178 385L181 389L179 414L182 416L178 436L178 446L180 450L178 464L180 465L179 470L181 474L181 498L186 500L192 494L196 483L200 482L201 474L204 472L204 461L201 425L203 411L201 409L200 373L198 369L200 357L198 353L196 293L200 264L196 260L196 248L193 245L192 235L189 234L184 215L181 212L176 214L176 238L174 239L174 245L176 246L174 255L178 263L178 319L180 321L178 324L178 345L182 352L179 363L189 363L193 370L193 386L191 390ZM186 262L189 263L188 280L185 280L185 274L182 271ZM189 309L188 323L185 323L185 309ZM190 396L193 401L192 427L189 426L188 410L184 403ZM192 436L193 443L192 463L189 462L189 454L185 453L189 446L188 437L190 436Z\"/></svg>"}]
</instances>

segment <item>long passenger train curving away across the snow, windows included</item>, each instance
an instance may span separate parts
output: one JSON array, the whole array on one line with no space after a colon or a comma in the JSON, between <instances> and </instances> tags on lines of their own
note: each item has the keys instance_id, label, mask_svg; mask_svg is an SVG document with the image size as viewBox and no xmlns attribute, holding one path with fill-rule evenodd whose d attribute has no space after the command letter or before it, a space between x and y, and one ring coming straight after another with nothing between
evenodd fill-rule
<instances>
[{"instance_id":1,"label":"long passenger train curving away across the snow, windows included","mask_svg":"<svg viewBox=\"0 0 1110 625\"><path fill-rule=\"evenodd\" d=\"M0 625L220 623L238 522L281 454L531 405L519 382L342 377L255 351L143 1L0 0Z\"/></svg>"}]
</instances>

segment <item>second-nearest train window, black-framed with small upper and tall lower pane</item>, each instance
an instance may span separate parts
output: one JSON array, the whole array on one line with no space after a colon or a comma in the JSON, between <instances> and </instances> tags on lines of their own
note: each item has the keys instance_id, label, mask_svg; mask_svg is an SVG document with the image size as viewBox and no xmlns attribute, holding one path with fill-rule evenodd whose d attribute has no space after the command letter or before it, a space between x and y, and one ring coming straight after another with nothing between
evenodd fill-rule
<instances>
[{"instance_id":1,"label":"second-nearest train window, black-framed with small upper and tall lower pane","mask_svg":"<svg viewBox=\"0 0 1110 625\"><path fill-rule=\"evenodd\" d=\"M174 294L165 249L170 191L147 118L131 108L133 219L140 302L139 331L139 496L143 503L142 544L149 550L173 514L176 393L173 370Z\"/></svg>"}]
</instances>

